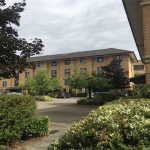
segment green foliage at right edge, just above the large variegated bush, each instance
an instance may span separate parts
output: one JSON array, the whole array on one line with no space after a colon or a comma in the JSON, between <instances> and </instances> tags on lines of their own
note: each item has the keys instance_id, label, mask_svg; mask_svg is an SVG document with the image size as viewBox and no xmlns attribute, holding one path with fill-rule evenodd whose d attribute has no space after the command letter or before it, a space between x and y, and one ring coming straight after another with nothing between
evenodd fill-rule
<instances>
[{"instance_id":1,"label":"green foliage at right edge, just above the large variegated bush","mask_svg":"<svg viewBox=\"0 0 150 150\"><path fill-rule=\"evenodd\" d=\"M134 93L139 97L150 98L150 84L136 85Z\"/></svg>"}]
</instances>

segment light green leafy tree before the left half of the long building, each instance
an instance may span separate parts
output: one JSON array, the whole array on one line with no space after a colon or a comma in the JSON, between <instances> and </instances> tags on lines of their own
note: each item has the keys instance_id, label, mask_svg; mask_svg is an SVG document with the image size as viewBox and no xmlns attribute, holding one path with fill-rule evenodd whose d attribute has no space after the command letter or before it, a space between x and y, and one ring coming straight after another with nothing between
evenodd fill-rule
<instances>
[{"instance_id":1,"label":"light green leafy tree before the left half of the long building","mask_svg":"<svg viewBox=\"0 0 150 150\"><path fill-rule=\"evenodd\" d=\"M56 78L51 78L46 68L40 68L37 74L25 80L23 89L28 90L29 93L35 92L38 95L45 95L51 91L52 93L59 89L60 84Z\"/></svg>"}]
</instances>

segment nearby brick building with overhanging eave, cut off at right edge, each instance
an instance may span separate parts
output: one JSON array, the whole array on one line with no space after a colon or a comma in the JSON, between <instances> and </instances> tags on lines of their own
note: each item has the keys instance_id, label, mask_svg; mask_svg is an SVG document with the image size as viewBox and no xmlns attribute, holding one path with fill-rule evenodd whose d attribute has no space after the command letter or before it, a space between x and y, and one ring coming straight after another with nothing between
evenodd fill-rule
<instances>
[{"instance_id":1,"label":"nearby brick building with overhanging eave, cut off at right edge","mask_svg":"<svg viewBox=\"0 0 150 150\"><path fill-rule=\"evenodd\" d=\"M123 0L123 4L150 84L150 0Z\"/></svg>"}]
</instances>

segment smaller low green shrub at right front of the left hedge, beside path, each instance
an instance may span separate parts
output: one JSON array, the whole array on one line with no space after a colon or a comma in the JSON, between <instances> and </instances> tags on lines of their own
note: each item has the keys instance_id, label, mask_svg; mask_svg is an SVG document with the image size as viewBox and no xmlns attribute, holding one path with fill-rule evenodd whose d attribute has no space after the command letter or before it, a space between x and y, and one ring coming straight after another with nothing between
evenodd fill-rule
<instances>
[{"instance_id":1,"label":"smaller low green shrub at right front of the left hedge, beside path","mask_svg":"<svg viewBox=\"0 0 150 150\"><path fill-rule=\"evenodd\" d=\"M50 119L49 117L33 118L29 121L24 133L23 139L31 137L45 136L49 134Z\"/></svg>"}]
</instances>

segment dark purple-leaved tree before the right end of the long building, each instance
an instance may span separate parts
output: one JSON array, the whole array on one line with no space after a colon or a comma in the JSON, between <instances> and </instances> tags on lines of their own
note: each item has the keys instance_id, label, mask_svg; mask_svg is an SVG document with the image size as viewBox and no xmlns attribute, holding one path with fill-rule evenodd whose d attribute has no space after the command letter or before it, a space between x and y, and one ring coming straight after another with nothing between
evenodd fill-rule
<instances>
[{"instance_id":1,"label":"dark purple-leaved tree before the right end of the long building","mask_svg":"<svg viewBox=\"0 0 150 150\"><path fill-rule=\"evenodd\" d=\"M121 59L113 59L108 66L104 66L103 76L110 79L114 89L123 89L129 85L129 78L121 66Z\"/></svg>"}]
</instances>

